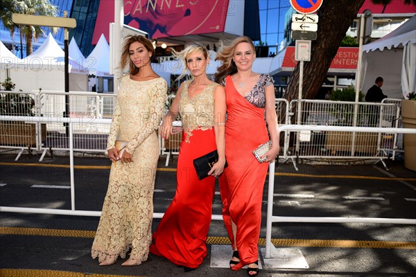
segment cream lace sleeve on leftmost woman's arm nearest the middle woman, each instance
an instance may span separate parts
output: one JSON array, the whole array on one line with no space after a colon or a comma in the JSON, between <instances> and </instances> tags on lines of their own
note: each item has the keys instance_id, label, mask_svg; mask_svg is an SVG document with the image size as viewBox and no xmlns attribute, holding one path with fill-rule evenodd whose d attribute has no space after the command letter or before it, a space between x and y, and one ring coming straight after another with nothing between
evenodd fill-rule
<instances>
[{"instance_id":1,"label":"cream lace sleeve on leftmost woman's arm nearest the middle woman","mask_svg":"<svg viewBox=\"0 0 416 277\"><path fill-rule=\"evenodd\" d=\"M166 99L167 84L165 81L158 82L150 93L148 111L141 115L139 132L127 145L127 152L133 154L136 148L143 143L150 134L159 127L162 119L164 103Z\"/></svg>"}]
</instances>

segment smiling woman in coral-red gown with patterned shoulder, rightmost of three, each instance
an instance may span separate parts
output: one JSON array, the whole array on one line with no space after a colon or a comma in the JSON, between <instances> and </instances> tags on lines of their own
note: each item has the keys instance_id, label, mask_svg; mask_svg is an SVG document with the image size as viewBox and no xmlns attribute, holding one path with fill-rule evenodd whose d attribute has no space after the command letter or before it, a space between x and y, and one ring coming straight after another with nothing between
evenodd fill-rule
<instances>
[{"instance_id":1,"label":"smiling woman in coral-red gown with patterned shoulder, rightmost of three","mask_svg":"<svg viewBox=\"0 0 416 277\"><path fill-rule=\"evenodd\" d=\"M218 53L216 60L223 66L215 75L216 82L225 86L227 98L225 156L229 166L220 177L220 194L234 250L229 266L239 270L248 265L249 276L259 272L261 200L268 162L279 154L273 80L268 74L252 72L255 53L250 38L234 39ZM260 163L252 151L269 141L269 134L272 148L263 156L266 162Z\"/></svg>"}]
</instances>

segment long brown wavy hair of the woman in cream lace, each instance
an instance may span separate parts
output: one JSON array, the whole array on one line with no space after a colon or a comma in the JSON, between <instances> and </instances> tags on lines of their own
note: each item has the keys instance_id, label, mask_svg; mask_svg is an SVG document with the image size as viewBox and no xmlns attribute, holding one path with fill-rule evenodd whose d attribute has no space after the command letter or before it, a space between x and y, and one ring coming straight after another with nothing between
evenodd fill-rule
<instances>
[{"instance_id":1,"label":"long brown wavy hair of the woman in cream lace","mask_svg":"<svg viewBox=\"0 0 416 277\"><path fill-rule=\"evenodd\" d=\"M121 69L124 69L125 66L128 64L130 75L135 75L140 71L140 69L137 68L130 59L129 48L130 44L132 44L133 42L139 42L143 44L147 51L151 53L152 56L150 57L149 62L152 62L153 57L155 57L155 48L153 47L152 42L146 39L146 37L142 35L128 35L127 37L125 37L123 42L123 48L121 49L120 67Z\"/></svg>"}]
</instances>

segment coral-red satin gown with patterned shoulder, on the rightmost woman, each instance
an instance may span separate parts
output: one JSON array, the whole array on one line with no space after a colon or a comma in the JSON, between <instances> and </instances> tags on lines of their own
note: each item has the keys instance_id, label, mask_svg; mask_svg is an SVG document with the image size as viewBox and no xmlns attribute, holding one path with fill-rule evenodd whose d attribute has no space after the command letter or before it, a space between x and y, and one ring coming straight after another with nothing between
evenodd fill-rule
<instances>
[{"instance_id":1,"label":"coral-red satin gown with patterned shoulder, on the rightmost woman","mask_svg":"<svg viewBox=\"0 0 416 277\"><path fill-rule=\"evenodd\" d=\"M261 75L250 93L258 93L261 85L264 89L265 78L270 78L270 75ZM259 254L261 201L268 170L268 163L259 163L252 151L268 141L269 136L264 120L264 108L256 107L241 96L229 75L225 80L225 93L225 157L228 168L225 168L220 176L223 220L232 245L234 238L231 220L236 224L237 250L241 262L247 265L257 261Z\"/></svg>"}]
</instances>

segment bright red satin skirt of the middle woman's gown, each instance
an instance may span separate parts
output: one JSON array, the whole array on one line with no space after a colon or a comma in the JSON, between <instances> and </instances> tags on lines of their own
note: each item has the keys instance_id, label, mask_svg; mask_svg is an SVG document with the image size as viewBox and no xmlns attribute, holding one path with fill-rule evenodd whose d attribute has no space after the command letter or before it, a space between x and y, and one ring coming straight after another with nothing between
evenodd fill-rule
<instances>
[{"instance_id":1,"label":"bright red satin skirt of the middle woman's gown","mask_svg":"<svg viewBox=\"0 0 416 277\"><path fill-rule=\"evenodd\" d=\"M185 93L188 85L189 83L184 89ZM201 96L209 98L212 109L214 107L212 93L216 85L205 90L206 96ZM196 102L193 104L196 109L200 107ZM212 118L214 118L213 111ZM182 120L182 123L184 121L186 122ZM193 167L193 159L214 150L216 150L214 127L207 130L193 129L190 133L182 132L177 159L175 197L164 213L157 231L153 233L153 244L150 245L151 253L163 256L175 265L197 268L207 256L206 242L211 223L215 177L209 176L200 181Z\"/></svg>"}]
</instances>

